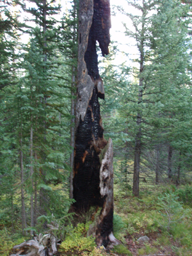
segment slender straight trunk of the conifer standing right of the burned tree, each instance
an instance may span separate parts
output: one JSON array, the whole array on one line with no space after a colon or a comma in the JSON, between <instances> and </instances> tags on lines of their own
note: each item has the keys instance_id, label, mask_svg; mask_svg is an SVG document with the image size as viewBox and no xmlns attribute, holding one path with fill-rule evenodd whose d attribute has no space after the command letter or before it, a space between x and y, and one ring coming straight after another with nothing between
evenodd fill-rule
<instances>
[{"instance_id":1,"label":"slender straight trunk of the conifer standing right of the burned tree","mask_svg":"<svg viewBox=\"0 0 192 256\"><path fill-rule=\"evenodd\" d=\"M143 2L144 3L144 2ZM143 12L143 11L142 11ZM142 14L144 16L144 12ZM141 43L139 47L140 51L140 84L139 84L139 92L138 92L138 108L140 108L140 103L143 100L143 68L144 68L144 20L142 22L141 29ZM134 170L133 170L133 186L132 186L132 194L134 196L139 196L140 194L140 158L141 158L141 122L142 122L142 112L141 109L138 110L137 120L136 120L136 139L135 139L135 147L134 147Z\"/></svg>"}]
</instances>

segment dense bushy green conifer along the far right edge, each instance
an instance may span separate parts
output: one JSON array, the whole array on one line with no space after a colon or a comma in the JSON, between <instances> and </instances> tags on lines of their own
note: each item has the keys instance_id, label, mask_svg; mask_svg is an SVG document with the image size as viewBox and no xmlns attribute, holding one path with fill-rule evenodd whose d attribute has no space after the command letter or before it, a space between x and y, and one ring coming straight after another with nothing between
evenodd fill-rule
<instances>
[{"instance_id":1,"label":"dense bushy green conifer along the far right edge","mask_svg":"<svg viewBox=\"0 0 192 256\"><path fill-rule=\"evenodd\" d=\"M191 116L187 107L191 102L188 87L190 81L187 12L188 8L180 1L163 1L159 3L157 14L152 21L154 79L159 87L157 102L161 102L159 105L161 141L167 148L168 178L173 180L177 172L177 163L173 163L173 156L175 154L179 157L179 151L182 151L183 147L181 141L186 141L186 132L181 132L179 127L181 125L185 131L184 115L188 113L188 116ZM188 127L191 126L189 124L188 122Z\"/></svg>"}]
</instances>

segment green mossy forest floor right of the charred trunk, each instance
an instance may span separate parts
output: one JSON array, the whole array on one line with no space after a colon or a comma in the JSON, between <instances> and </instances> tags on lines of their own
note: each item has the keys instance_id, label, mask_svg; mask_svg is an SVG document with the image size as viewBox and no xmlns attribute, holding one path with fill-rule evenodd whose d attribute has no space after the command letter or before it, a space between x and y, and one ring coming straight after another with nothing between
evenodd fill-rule
<instances>
[{"instance_id":1,"label":"green mossy forest floor right of the charred trunk","mask_svg":"<svg viewBox=\"0 0 192 256\"><path fill-rule=\"evenodd\" d=\"M114 234L131 252L116 255L191 256L192 187L144 183L139 198L131 192L115 184Z\"/></svg>"}]
</instances>

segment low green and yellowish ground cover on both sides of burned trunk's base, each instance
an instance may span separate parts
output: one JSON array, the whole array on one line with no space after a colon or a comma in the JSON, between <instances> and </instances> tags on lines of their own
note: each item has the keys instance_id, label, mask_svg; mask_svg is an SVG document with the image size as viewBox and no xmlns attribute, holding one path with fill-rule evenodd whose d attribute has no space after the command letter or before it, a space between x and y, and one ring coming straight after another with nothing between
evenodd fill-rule
<instances>
[{"instance_id":1,"label":"low green and yellowish ground cover on both sides of burned trunk's base","mask_svg":"<svg viewBox=\"0 0 192 256\"><path fill-rule=\"evenodd\" d=\"M176 187L141 182L137 198L132 196L130 184L116 182L114 202L113 233L122 244L109 251L96 248L93 237L86 237L89 224L83 223L70 230L60 246L60 256L192 256L191 184ZM0 234L0 255L8 256L19 240L13 243L6 228ZM148 241L141 243L138 239L143 236Z\"/></svg>"}]
</instances>

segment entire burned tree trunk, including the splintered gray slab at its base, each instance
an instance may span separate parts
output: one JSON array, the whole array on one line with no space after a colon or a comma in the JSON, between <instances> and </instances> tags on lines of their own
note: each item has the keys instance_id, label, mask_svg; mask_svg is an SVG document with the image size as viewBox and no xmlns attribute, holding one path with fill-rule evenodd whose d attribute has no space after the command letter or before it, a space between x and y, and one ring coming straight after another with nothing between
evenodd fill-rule
<instances>
[{"instance_id":1,"label":"entire burned tree trunk, including the splintered gray slab at its base","mask_svg":"<svg viewBox=\"0 0 192 256\"><path fill-rule=\"evenodd\" d=\"M82 214L95 207L99 217L89 234L104 246L109 241L117 242L113 236L113 145L103 136L99 98L104 99L104 87L99 76L96 41L102 56L108 54L110 27L109 0L80 0L73 168L76 202L72 211Z\"/></svg>"}]
</instances>

